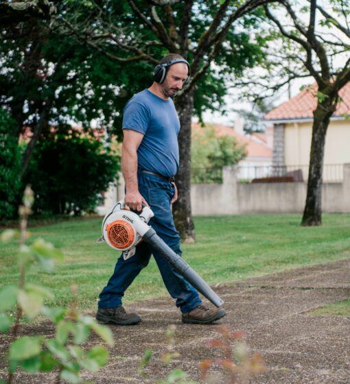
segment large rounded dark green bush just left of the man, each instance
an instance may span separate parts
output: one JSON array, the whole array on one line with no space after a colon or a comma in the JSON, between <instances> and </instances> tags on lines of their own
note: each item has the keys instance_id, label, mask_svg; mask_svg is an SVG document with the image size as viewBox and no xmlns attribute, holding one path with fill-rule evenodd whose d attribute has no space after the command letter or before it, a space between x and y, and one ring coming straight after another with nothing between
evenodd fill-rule
<instances>
[{"instance_id":1,"label":"large rounded dark green bush just left of the man","mask_svg":"<svg viewBox=\"0 0 350 384\"><path fill-rule=\"evenodd\" d=\"M93 211L120 169L119 156L92 135L62 131L36 145L23 180L36 194L35 213Z\"/></svg>"}]
</instances>

